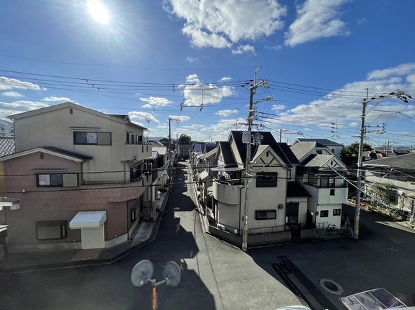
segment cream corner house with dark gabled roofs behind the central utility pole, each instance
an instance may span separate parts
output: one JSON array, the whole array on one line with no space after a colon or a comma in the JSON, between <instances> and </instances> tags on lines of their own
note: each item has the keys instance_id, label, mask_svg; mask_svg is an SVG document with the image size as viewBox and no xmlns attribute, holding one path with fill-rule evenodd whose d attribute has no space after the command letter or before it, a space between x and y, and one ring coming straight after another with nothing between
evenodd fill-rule
<instances>
[{"instance_id":1,"label":"cream corner house with dark gabled roofs behind the central utility pole","mask_svg":"<svg viewBox=\"0 0 415 310\"><path fill-rule=\"evenodd\" d=\"M251 145L252 169L248 175L243 132L231 131L228 141L218 143L217 166L209 169L214 171L210 232L242 244L247 197L249 245L312 236L314 223L307 223L310 194L295 180L298 160L287 144L276 142L271 132L252 135L261 142Z\"/></svg>"}]
</instances>

